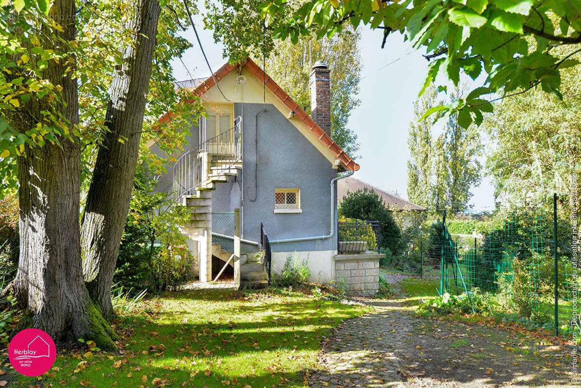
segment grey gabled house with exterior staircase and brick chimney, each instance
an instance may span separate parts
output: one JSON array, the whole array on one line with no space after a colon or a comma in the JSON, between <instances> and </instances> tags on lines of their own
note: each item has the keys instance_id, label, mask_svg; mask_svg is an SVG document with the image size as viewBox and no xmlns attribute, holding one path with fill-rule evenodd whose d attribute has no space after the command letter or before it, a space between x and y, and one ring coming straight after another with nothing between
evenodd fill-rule
<instances>
[{"instance_id":1,"label":"grey gabled house with exterior staircase and brick chimney","mask_svg":"<svg viewBox=\"0 0 581 388\"><path fill-rule=\"evenodd\" d=\"M228 245L239 209L242 283L264 282L261 265L250 261L264 225L274 272L296 256L308 261L311 280L331 282L336 268L346 271L349 264L361 271L357 282L347 281L361 285L360 276L369 274L363 280L376 292L378 254L368 254L369 263L363 256L356 263L337 252L336 182L359 166L330 137L327 65L315 63L310 74L312 117L251 59L226 63L214 76L180 82L202 98L207 117L192 120L189 148L158 185L191 209L191 222L181 229L198 257L200 281L213 279L233 256ZM163 120L170 120L169 114ZM155 144L150 149L161 153ZM340 275L350 278L350 272Z\"/></svg>"}]
</instances>

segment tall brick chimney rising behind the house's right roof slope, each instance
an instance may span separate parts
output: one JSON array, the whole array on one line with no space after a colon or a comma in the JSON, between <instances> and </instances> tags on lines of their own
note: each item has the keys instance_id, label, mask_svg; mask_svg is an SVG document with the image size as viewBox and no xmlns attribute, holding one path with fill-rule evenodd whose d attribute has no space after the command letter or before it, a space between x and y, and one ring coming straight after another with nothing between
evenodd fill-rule
<instances>
[{"instance_id":1,"label":"tall brick chimney rising behind the house's right roof slope","mask_svg":"<svg viewBox=\"0 0 581 388\"><path fill-rule=\"evenodd\" d=\"M317 61L311 68L311 117L331 136L331 78L327 63Z\"/></svg>"}]
</instances>

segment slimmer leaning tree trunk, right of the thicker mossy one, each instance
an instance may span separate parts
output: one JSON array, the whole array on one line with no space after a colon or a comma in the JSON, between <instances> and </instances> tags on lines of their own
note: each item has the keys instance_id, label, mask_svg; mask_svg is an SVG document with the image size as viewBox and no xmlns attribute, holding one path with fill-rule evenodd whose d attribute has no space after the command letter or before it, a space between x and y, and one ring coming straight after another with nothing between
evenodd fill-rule
<instances>
[{"instance_id":1,"label":"slimmer leaning tree trunk, right of the thicker mossy one","mask_svg":"<svg viewBox=\"0 0 581 388\"><path fill-rule=\"evenodd\" d=\"M127 218L149 89L160 6L133 0L135 45L124 48L115 70L106 113L109 129L99 147L81 227L83 275L103 316L113 317L111 283Z\"/></svg>"}]
</instances>

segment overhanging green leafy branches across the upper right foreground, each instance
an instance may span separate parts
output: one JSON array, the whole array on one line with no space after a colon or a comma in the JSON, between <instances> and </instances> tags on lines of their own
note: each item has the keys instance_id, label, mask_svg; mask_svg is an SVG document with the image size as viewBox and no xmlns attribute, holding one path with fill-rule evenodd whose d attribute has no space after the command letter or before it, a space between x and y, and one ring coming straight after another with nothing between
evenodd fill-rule
<instances>
[{"instance_id":1,"label":"overhanging green leafy branches across the upper right foreground","mask_svg":"<svg viewBox=\"0 0 581 388\"><path fill-rule=\"evenodd\" d=\"M297 42L301 35L341 33L349 24L381 28L385 36L399 31L431 60L424 88L443 74L454 85L460 72L481 87L464 98L426 112L457 112L462 127L479 125L492 112L491 99L534 88L560 96L560 69L575 66L570 46L564 56L551 49L581 42L581 2L578 0L267 0L260 16L272 37ZM551 21L557 17L557 28ZM445 87L442 87L445 89ZM488 99L486 95L490 95Z\"/></svg>"}]
</instances>

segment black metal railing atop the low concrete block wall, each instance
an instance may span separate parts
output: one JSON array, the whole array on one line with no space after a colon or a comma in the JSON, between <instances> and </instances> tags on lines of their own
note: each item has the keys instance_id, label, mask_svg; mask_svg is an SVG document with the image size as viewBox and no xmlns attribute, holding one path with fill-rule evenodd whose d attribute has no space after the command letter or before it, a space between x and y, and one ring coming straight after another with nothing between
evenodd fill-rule
<instances>
[{"instance_id":1,"label":"black metal railing atop the low concrete block wall","mask_svg":"<svg viewBox=\"0 0 581 388\"><path fill-rule=\"evenodd\" d=\"M379 221L339 218L337 221L337 252L363 253L381 248Z\"/></svg>"}]
</instances>

